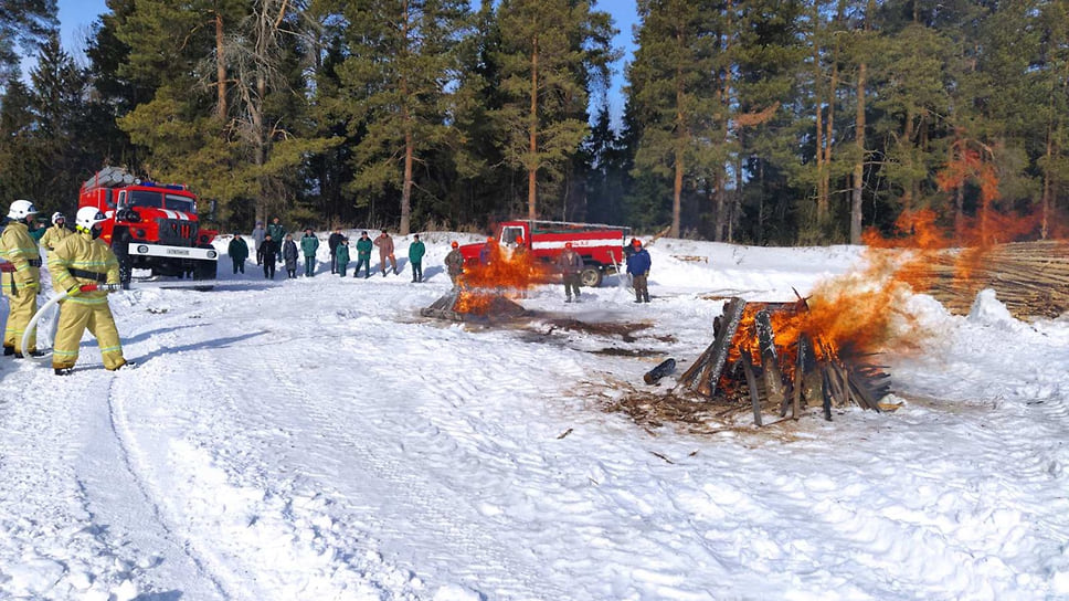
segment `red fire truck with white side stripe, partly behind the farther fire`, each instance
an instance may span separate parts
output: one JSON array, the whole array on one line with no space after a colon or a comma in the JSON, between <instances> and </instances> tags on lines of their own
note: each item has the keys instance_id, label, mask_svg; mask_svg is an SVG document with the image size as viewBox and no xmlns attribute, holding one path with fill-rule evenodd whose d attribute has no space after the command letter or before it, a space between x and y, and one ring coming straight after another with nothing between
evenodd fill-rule
<instances>
[{"instance_id":1,"label":"red fire truck with white side stripe, partly behind the farther fire","mask_svg":"<svg viewBox=\"0 0 1069 601\"><path fill-rule=\"evenodd\" d=\"M584 286L597 287L602 278L616 273L624 263L624 236L629 228L601 223L571 223L565 221L504 221L498 224L496 241L514 249L522 239L522 245L533 256L546 262L557 261L564 244L583 257L581 281ZM465 263L477 263L485 244L465 244L461 254Z\"/></svg>"}]
</instances>

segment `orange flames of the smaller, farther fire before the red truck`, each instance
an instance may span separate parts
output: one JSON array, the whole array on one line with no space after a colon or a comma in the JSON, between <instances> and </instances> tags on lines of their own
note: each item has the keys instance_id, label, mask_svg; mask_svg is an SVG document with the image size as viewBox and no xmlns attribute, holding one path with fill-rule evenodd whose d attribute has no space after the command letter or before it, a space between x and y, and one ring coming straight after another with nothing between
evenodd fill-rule
<instances>
[{"instance_id":1,"label":"orange flames of the smaller, farther fire before the red truck","mask_svg":"<svg viewBox=\"0 0 1069 601\"><path fill-rule=\"evenodd\" d=\"M542 261L537 261L526 249L507 252L499 244L487 244L487 260L466 265L461 275L457 313L486 315L495 298L519 298L531 286L550 282L552 273Z\"/></svg>"}]
</instances>

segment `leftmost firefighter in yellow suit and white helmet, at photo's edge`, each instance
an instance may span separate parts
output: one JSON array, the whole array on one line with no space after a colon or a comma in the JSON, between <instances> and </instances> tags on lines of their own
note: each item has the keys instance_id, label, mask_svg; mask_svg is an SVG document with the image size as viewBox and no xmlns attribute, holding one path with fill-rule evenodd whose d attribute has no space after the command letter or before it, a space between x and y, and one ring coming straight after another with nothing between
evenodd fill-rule
<instances>
[{"instance_id":1,"label":"leftmost firefighter in yellow suit and white helmet, at photo's edge","mask_svg":"<svg viewBox=\"0 0 1069 601\"><path fill-rule=\"evenodd\" d=\"M0 283L3 295L8 297L8 326L3 331L3 354L21 358L22 333L30 318L38 312L38 289L41 283L41 255L38 243L30 238L28 222L38 214L29 200L17 200L8 211L8 225L0 234L0 254L10 263L13 271L3 272ZM36 355L36 337L27 340L29 352Z\"/></svg>"}]
</instances>

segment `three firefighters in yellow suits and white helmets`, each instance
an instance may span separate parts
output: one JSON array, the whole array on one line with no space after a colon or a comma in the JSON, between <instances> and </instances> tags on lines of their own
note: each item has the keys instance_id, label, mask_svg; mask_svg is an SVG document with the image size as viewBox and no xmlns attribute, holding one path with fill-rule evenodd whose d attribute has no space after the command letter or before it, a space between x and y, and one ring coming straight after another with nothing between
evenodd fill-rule
<instances>
[{"instance_id":1,"label":"three firefighters in yellow suits and white helmets","mask_svg":"<svg viewBox=\"0 0 1069 601\"><path fill-rule=\"evenodd\" d=\"M47 250L52 287L63 295L60 320L52 348L52 368L57 376L71 373L78 359L82 334L88 329L100 347L104 368L114 371L129 365L123 357L123 346L107 292L99 284L119 284L119 264L112 249L99 240L107 218L93 207L78 209L75 228L66 228L66 217L52 215L52 225L36 239L31 224L36 208L29 200L11 203L3 233L0 234L0 255L7 260L2 274L3 294L8 299L8 320L3 333L3 355L23 358L40 357L36 336L24 336L30 320L38 312L41 285L40 243ZM25 348L22 346L27 338Z\"/></svg>"}]
</instances>

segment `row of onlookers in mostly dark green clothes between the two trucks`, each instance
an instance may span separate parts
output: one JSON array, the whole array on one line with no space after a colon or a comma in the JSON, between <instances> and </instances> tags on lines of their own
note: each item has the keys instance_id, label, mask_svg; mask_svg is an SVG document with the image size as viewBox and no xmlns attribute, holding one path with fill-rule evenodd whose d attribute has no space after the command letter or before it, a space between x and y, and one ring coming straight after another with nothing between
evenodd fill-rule
<instances>
[{"instance_id":1,"label":"row of onlookers in mostly dark green clothes between the two trucks","mask_svg":"<svg viewBox=\"0 0 1069 601\"><path fill-rule=\"evenodd\" d=\"M233 235L227 253L233 262L234 274L245 273L245 261L250 256L248 244L241 233L235 231ZM319 250L319 238L316 236L311 228L305 229L305 233L300 238L299 251L297 243L293 240L293 234L285 232L277 217L272 220L266 229L263 221L257 221L250 235L255 245L256 264L263 265L265 278L275 278L276 262L285 263L288 277L297 277L297 262L300 256L304 256L305 260L305 276L314 277L316 275L316 252ZM412 238L413 240L409 244L412 282L423 282L423 255L426 254L426 246L420 240L420 234ZM276 242L277 240L283 240L281 246ZM349 250L349 238L341 233L341 228L335 229L327 238L327 246L330 250L330 273L345 277L349 271L349 263L352 262L352 255ZM371 277L371 251L375 247L379 249L379 270L382 276L385 277L387 275L388 264L394 275L401 273L394 253L393 238L390 236L388 230L382 230L374 240L368 236L368 232L360 233L360 239L356 243L357 266L352 273L353 277L360 276L361 268L364 270L364 278Z\"/></svg>"}]
</instances>

